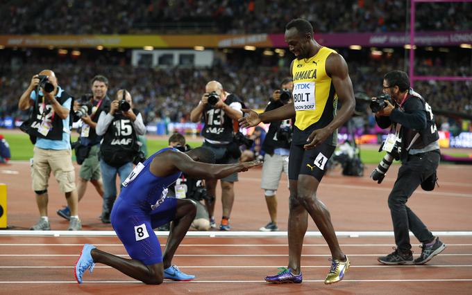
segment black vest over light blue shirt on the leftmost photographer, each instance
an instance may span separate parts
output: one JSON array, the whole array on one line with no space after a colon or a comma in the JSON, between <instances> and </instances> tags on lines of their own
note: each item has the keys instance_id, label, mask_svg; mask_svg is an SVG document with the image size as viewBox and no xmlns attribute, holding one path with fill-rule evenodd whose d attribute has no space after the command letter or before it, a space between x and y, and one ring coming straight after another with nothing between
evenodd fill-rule
<instances>
[{"instance_id":1,"label":"black vest over light blue shirt on the leftmost photographer","mask_svg":"<svg viewBox=\"0 0 472 295\"><path fill-rule=\"evenodd\" d=\"M58 93L56 94L55 98L58 100L61 106L66 100L71 98L71 106L74 105L74 98L60 87L58 87ZM72 116L69 115L69 126L64 127L62 124L62 118L56 114L53 106L47 103L47 98L44 98L42 91L39 91L37 93L37 98L35 99L35 104L33 107L33 122L31 123L31 129L28 131L28 133L32 136L36 136L37 138L46 138L52 141L62 141L62 134L64 132L70 133L69 130L71 126L71 117ZM44 128L45 126L49 127L49 131Z\"/></svg>"}]
</instances>

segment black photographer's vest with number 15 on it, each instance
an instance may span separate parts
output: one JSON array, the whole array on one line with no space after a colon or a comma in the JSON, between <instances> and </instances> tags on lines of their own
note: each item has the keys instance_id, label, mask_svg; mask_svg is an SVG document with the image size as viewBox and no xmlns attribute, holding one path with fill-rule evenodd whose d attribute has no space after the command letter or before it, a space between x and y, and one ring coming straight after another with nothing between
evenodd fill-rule
<instances>
[{"instance_id":1,"label":"black photographer's vest with number 15 on it","mask_svg":"<svg viewBox=\"0 0 472 295\"><path fill-rule=\"evenodd\" d=\"M133 109L133 113L137 116L140 111ZM115 113L112 123L103 135L100 145L101 159L110 166L121 167L133 162L139 149L133 122L121 112Z\"/></svg>"}]
</instances>

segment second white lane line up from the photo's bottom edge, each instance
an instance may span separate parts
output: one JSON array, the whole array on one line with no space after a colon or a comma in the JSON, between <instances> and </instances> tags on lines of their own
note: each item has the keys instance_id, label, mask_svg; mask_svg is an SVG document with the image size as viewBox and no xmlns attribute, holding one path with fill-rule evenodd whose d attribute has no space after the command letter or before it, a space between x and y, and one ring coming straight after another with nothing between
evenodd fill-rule
<instances>
[{"instance_id":1,"label":"second white lane line up from the photo's bottom edge","mask_svg":"<svg viewBox=\"0 0 472 295\"><path fill-rule=\"evenodd\" d=\"M178 266L180 269L237 269L237 268L242 268L242 269L273 269L273 268L278 268L280 265L207 265L207 266ZM329 268L329 265L303 265L302 268L306 269L326 269ZM391 267L427 267L427 268L435 268L435 267L472 267L472 265L351 265L349 268L378 268L378 267L385 267L391 268ZM54 266L54 267L28 267L28 266L22 266L22 267L1 267L0 269L73 269L74 266ZM108 266L94 266L94 269L111 269L112 267Z\"/></svg>"}]
</instances>

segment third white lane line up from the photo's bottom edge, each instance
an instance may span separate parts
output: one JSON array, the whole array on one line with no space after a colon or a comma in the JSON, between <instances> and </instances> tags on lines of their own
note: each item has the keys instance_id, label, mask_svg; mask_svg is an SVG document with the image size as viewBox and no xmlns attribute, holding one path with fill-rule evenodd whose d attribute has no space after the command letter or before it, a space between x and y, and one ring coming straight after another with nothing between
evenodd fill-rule
<instances>
[{"instance_id":1,"label":"third white lane line up from the photo's bottom edge","mask_svg":"<svg viewBox=\"0 0 472 295\"><path fill-rule=\"evenodd\" d=\"M120 257L129 257L128 254L113 254ZM379 254L349 254L349 257L377 257L384 256L385 253ZM77 257L77 254L0 254L0 257ZM288 254L176 254L174 257L287 257ZM472 253L441 253L441 256L472 256ZM302 257L331 257L331 254L303 254Z\"/></svg>"}]
</instances>

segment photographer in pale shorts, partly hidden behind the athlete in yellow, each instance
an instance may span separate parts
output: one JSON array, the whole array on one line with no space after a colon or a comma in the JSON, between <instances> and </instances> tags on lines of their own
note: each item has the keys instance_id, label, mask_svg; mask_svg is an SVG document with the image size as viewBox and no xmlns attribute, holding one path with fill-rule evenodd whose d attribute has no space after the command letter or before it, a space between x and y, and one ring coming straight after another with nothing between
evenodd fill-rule
<instances>
[{"instance_id":1,"label":"photographer in pale shorts, partly hidden behind the athlete in yellow","mask_svg":"<svg viewBox=\"0 0 472 295\"><path fill-rule=\"evenodd\" d=\"M273 91L269 105L267 105L264 111L271 111L292 102L293 89L294 82L292 78L282 80L280 82L280 90ZM292 143L292 120L272 122L267 131L267 136L262 143L262 150L265 154L260 184L260 187L264 190L271 222L261 227L260 231L278 231L276 192L282 173L285 172L285 175L288 177L290 143Z\"/></svg>"}]
</instances>

